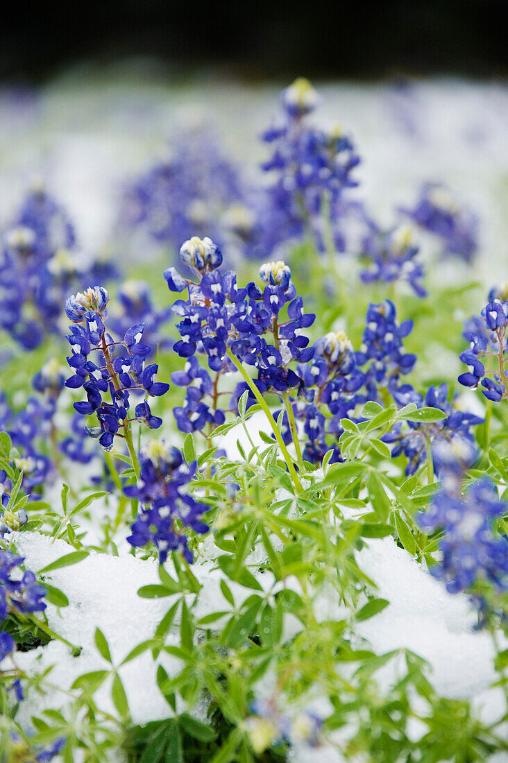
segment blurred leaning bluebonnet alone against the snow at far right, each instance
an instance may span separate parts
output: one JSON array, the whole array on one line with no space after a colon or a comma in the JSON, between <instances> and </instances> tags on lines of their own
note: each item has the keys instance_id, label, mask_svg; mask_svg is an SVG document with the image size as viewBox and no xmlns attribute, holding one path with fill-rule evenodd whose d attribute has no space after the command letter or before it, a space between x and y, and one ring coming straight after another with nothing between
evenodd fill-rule
<instances>
[{"instance_id":1,"label":"blurred leaning bluebonnet alone against the snow at far right","mask_svg":"<svg viewBox=\"0 0 508 763\"><path fill-rule=\"evenodd\" d=\"M419 227L442 241L445 255L471 262L477 252L478 222L468 209L461 208L451 192L438 183L422 186L414 208L401 209Z\"/></svg>"}]
</instances>

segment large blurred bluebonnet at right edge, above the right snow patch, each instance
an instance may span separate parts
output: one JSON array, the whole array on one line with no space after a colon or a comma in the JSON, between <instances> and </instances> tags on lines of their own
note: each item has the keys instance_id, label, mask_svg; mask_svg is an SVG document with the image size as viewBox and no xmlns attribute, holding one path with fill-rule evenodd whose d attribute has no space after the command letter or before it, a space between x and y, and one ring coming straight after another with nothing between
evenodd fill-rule
<instances>
[{"instance_id":1,"label":"large blurred bluebonnet at right edge, above the right snow patch","mask_svg":"<svg viewBox=\"0 0 508 763\"><path fill-rule=\"evenodd\" d=\"M490 581L497 589L508 588L508 541L496 533L497 517L506 513L497 488L489 478L474 481L461 493L461 476L471 465L471 447L460 439L442 442L442 488L432 498L418 522L425 533L441 530L442 560L432 575L455 594L470 589L476 581ZM450 468L451 467L451 468Z\"/></svg>"}]
</instances>

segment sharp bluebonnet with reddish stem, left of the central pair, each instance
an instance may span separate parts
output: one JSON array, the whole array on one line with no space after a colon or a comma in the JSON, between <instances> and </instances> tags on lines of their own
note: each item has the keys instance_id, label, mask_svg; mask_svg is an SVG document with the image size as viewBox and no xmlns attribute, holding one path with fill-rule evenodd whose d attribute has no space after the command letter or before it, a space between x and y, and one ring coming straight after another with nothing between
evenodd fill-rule
<instances>
[{"instance_id":1,"label":"sharp bluebonnet with reddish stem, left of the central pair","mask_svg":"<svg viewBox=\"0 0 508 763\"><path fill-rule=\"evenodd\" d=\"M72 350L67 362L73 375L65 384L85 390L86 401L75 403L74 408L82 416L96 415L99 426L87 426L85 430L99 439L106 452L112 449L115 435L125 437L125 432L130 431L131 420L142 421L151 429L162 423L151 413L146 399L136 405L134 418L129 419L130 394L159 397L170 386L156 381L156 363L145 365L150 346L142 342L143 323L131 326L122 341L115 342L105 333L103 319L107 317L108 301L105 288L95 286L68 298L65 304L67 317L73 321L66 337ZM89 359L91 353L96 353L96 362ZM108 401L103 400L103 394L108 394Z\"/></svg>"}]
</instances>

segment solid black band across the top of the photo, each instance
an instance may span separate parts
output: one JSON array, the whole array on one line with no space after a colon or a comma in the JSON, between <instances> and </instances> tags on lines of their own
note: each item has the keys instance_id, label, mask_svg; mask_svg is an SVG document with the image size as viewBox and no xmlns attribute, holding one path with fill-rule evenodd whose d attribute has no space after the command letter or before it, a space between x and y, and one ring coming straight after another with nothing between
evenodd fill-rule
<instances>
[{"instance_id":1,"label":"solid black band across the top of the photo","mask_svg":"<svg viewBox=\"0 0 508 763\"><path fill-rule=\"evenodd\" d=\"M37 0L2 10L0 79L150 57L257 81L508 73L508 0Z\"/></svg>"}]
</instances>

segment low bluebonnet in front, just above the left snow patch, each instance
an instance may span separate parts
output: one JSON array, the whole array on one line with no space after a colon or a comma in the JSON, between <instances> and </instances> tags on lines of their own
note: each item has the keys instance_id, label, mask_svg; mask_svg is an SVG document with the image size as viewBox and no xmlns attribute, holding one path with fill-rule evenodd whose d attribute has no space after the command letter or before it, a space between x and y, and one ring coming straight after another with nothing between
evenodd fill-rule
<instances>
[{"instance_id":1,"label":"low bluebonnet in front, just above the left snow patch","mask_svg":"<svg viewBox=\"0 0 508 763\"><path fill-rule=\"evenodd\" d=\"M179 449L153 440L141 449L140 466L138 483L124 488L126 495L138 498L143 505L131 526L128 542L138 547L153 542L161 564L170 551L176 550L192 562L186 530L206 533L209 529L201 520L207 507L186 492L196 474L196 463L187 465Z\"/></svg>"}]
</instances>

